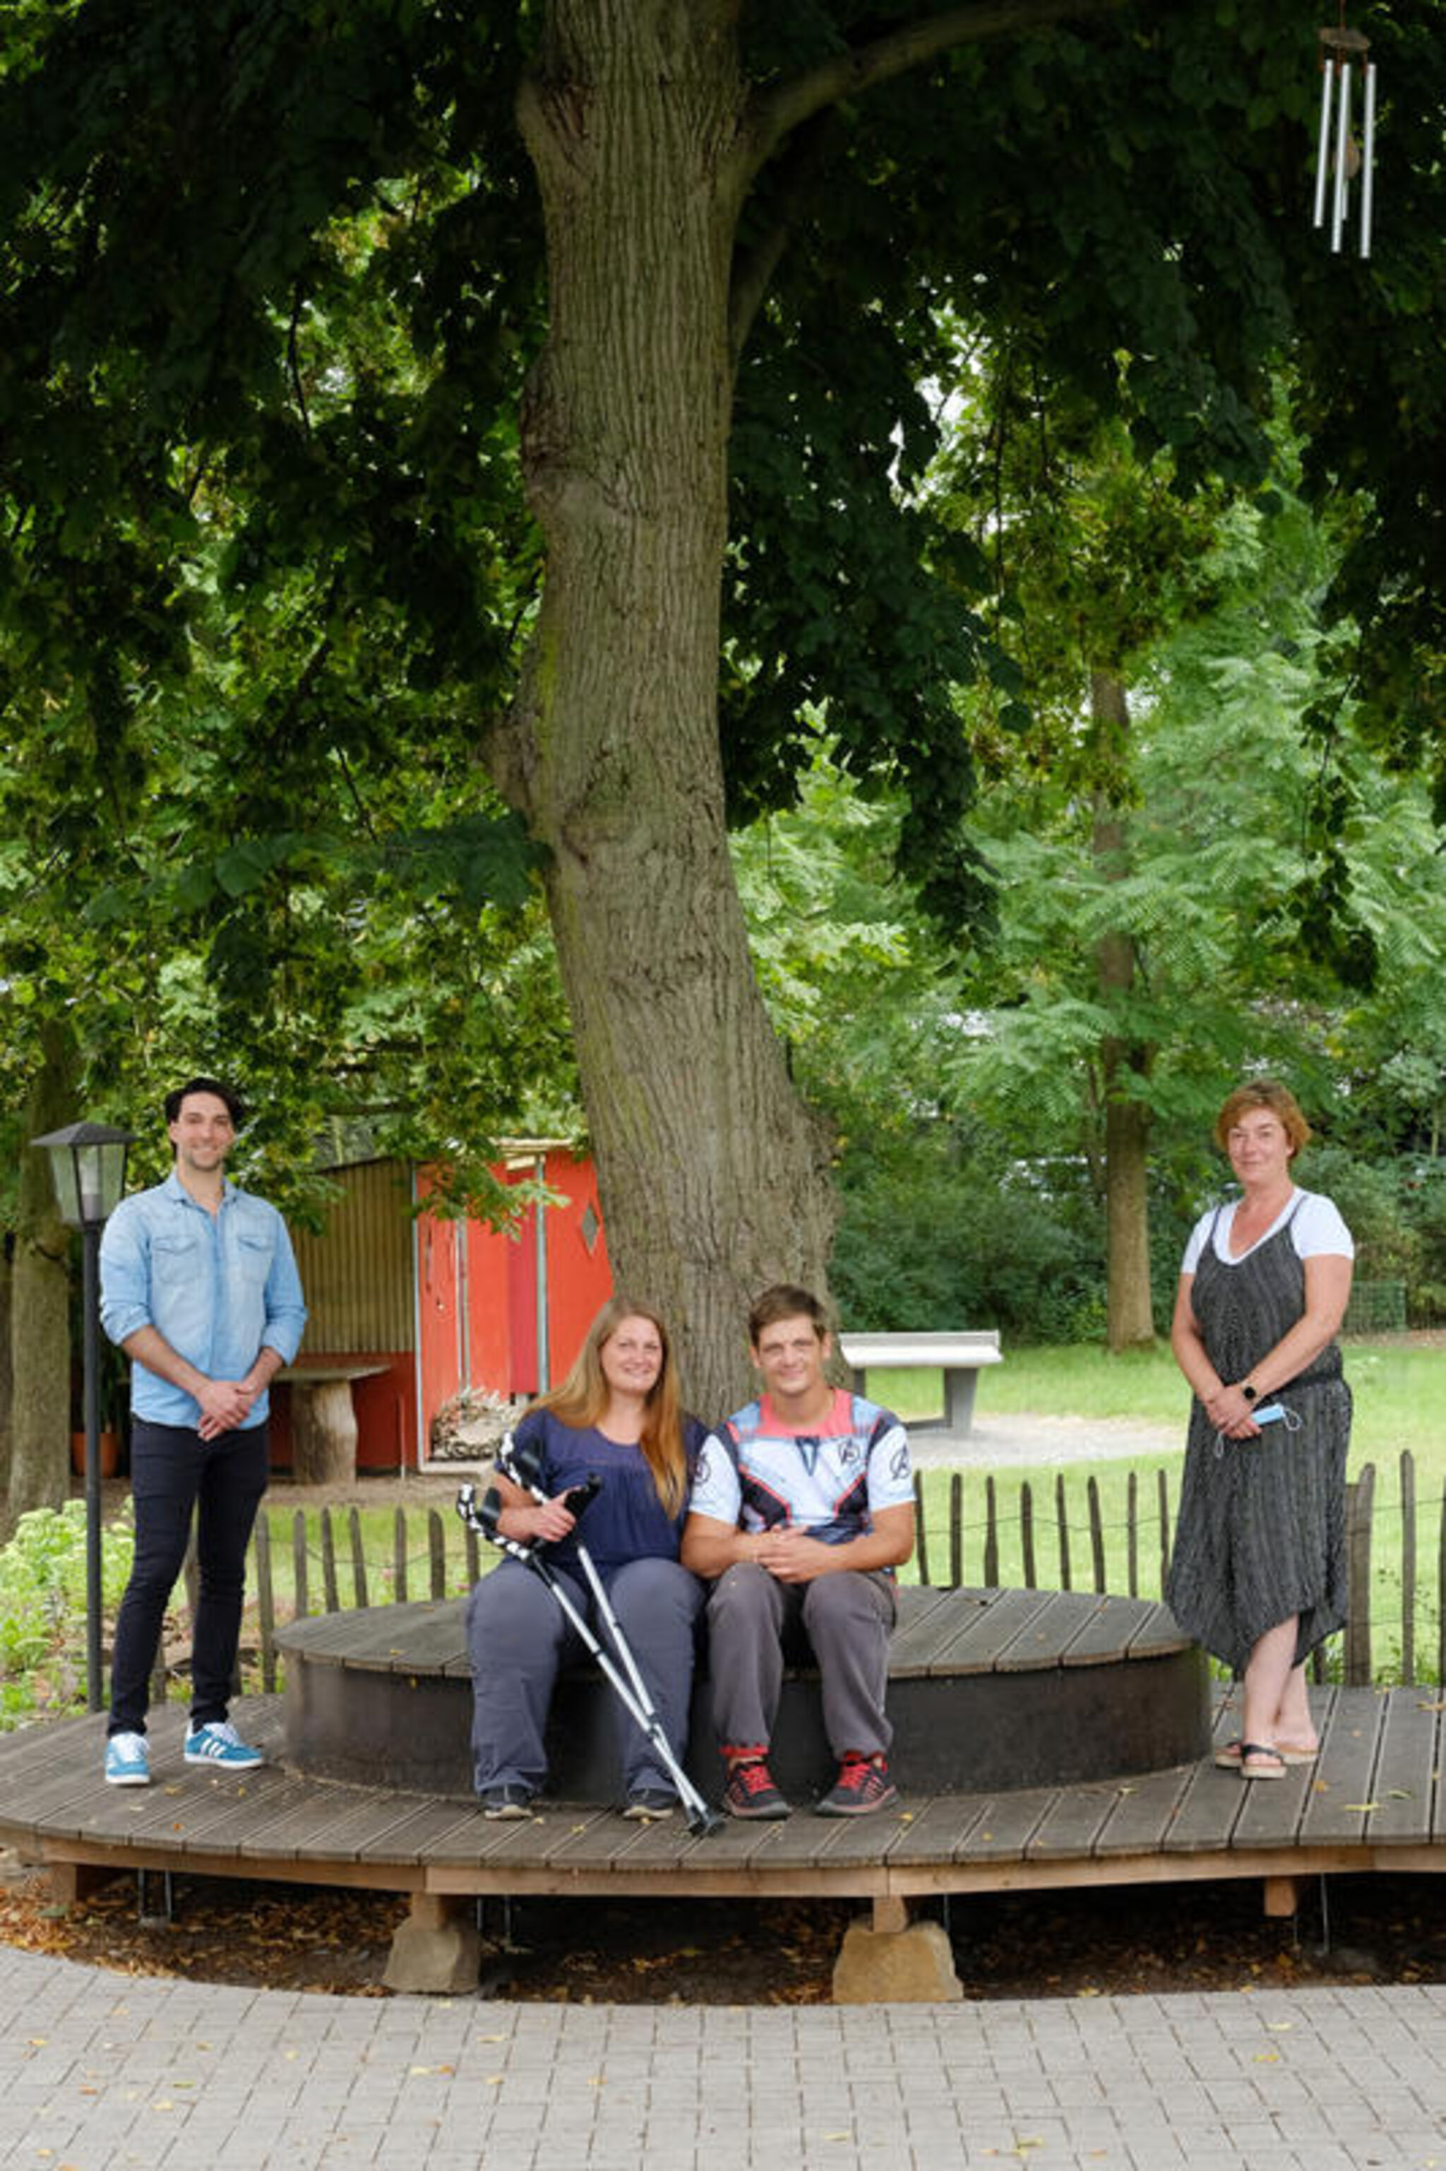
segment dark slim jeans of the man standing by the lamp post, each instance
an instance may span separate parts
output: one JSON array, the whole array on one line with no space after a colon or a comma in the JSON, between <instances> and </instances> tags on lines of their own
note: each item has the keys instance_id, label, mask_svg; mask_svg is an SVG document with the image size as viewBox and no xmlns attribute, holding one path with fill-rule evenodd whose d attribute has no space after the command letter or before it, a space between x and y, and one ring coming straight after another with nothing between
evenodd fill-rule
<instances>
[{"instance_id":1,"label":"dark slim jeans of the man standing by the lamp post","mask_svg":"<svg viewBox=\"0 0 1446 2171\"><path fill-rule=\"evenodd\" d=\"M202 1439L182 1424L130 1429L135 1563L115 1620L113 1735L143 1735L161 1624L195 1511L200 1600L191 1643L191 1724L224 1719L241 1641L245 1546L267 1489L267 1426Z\"/></svg>"}]
</instances>

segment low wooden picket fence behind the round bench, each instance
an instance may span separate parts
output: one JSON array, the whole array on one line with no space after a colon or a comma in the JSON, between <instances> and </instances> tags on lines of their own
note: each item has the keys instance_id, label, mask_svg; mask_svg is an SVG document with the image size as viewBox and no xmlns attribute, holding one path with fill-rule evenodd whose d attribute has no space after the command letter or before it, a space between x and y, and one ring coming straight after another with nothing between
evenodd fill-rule
<instances>
[{"instance_id":1,"label":"low wooden picket fence behind the round bench","mask_svg":"<svg viewBox=\"0 0 1446 2171\"><path fill-rule=\"evenodd\" d=\"M1381 1509L1374 1463L1366 1463L1346 1487L1350 1620L1333 1639L1335 1650L1316 1652L1318 1678L1329 1674L1348 1687L1372 1683L1377 1643L1390 1635L1398 1641L1383 1667L1392 1680L1413 1683L1418 1667L1424 1680L1446 1680L1446 1494L1431 1502L1437 1518L1435 1574L1422 1578L1416 1461L1409 1450L1400 1455L1398 1470L1398 1509ZM1083 1474L1079 1518L1079 1465L1060 1470L1049 1489L992 1472L929 1472L927 1478L931 1483L925 1483L925 1472L914 1478L921 1583L997 1587L1001 1559L1007 1557L1007 1580L1027 1589L1105 1591L1109 1557L1122 1550L1122 1594L1157 1598L1164 1589L1175 1531L1170 1472L1164 1468L1144 1478L1129 1472L1122 1526L1114 1528L1107 1528L1094 1474ZM1392 1531L1396 1515L1398 1531ZM291 1544L282 1548L263 1513L248 1565L245 1630L261 1687L274 1691L280 1683L276 1630L284 1622L408 1598L456 1598L493 1561L475 1531L436 1507L393 1511L384 1561L378 1561L376 1548L367 1552L356 1507L321 1509L310 1520L297 1509ZM187 1585L193 1602L193 1559L187 1561ZM1381 1611L1381 1591L1390 1591L1390 1613Z\"/></svg>"}]
</instances>

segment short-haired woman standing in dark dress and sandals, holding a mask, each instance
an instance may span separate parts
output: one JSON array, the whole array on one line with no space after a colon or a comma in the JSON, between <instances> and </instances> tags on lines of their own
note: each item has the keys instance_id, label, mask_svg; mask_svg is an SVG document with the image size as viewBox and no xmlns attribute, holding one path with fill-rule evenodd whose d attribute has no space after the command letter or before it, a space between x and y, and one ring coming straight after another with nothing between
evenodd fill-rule
<instances>
[{"instance_id":1,"label":"short-haired woman standing in dark dress and sandals, holding a mask","mask_svg":"<svg viewBox=\"0 0 1446 2171\"><path fill-rule=\"evenodd\" d=\"M1272 1079L1238 1086L1216 1142L1242 1185L1185 1246L1170 1346L1194 1389L1166 1600L1244 1676L1240 1741L1216 1763L1283 1778L1318 1750L1305 1659L1346 1620L1350 1389L1335 1335L1355 1246L1301 1190L1309 1140Z\"/></svg>"}]
</instances>

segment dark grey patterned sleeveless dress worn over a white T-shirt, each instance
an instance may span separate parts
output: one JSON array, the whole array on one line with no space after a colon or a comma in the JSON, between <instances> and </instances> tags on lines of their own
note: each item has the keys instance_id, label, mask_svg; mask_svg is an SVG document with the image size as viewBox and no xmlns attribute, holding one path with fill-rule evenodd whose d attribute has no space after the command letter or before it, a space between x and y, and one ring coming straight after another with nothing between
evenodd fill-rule
<instances>
[{"instance_id":1,"label":"dark grey patterned sleeveless dress worn over a white T-shirt","mask_svg":"<svg viewBox=\"0 0 1446 2171\"><path fill-rule=\"evenodd\" d=\"M1190 1290L1222 1381L1246 1379L1305 1311L1305 1261L1290 1222L1233 1264L1209 1235ZM1218 1216L1216 1216L1218 1220ZM1296 1665L1346 1620L1346 1444L1350 1387L1331 1342L1270 1394L1301 1424L1259 1437L1216 1433L1194 1398L1166 1602L1181 1628L1242 1674L1255 1643L1296 1615Z\"/></svg>"}]
</instances>

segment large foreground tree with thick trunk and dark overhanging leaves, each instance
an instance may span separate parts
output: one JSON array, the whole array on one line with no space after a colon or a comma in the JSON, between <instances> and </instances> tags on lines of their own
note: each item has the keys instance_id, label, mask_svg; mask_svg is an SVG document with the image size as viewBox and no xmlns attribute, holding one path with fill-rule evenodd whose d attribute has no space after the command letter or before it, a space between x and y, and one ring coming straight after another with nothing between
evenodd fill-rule
<instances>
[{"instance_id":1,"label":"large foreground tree with thick trunk and dark overhanging leaves","mask_svg":"<svg viewBox=\"0 0 1446 2171\"><path fill-rule=\"evenodd\" d=\"M736 1389L745 1296L819 1279L832 1222L725 795L790 799L823 695L845 766L905 788L931 910L986 892L951 684L1007 660L966 617L975 554L908 499L942 308L1042 321L1105 412L1129 352L1140 443L1185 480L1259 471L1292 347L1314 480L1359 473L1381 515L1350 560L1361 623L1368 586L1390 617L1363 693L1400 712L1413 673L1407 736L1429 712L1439 15L1372 22L1409 111L1396 237L1361 269L1305 228L1303 0L13 11L0 423L30 601L74 625L126 541L115 608L154 610L215 475L237 601L304 564L313 651L406 623L547 855L619 1272L680 1320L706 1405ZM276 740L254 751L261 805Z\"/></svg>"}]
</instances>

